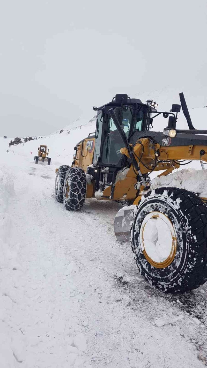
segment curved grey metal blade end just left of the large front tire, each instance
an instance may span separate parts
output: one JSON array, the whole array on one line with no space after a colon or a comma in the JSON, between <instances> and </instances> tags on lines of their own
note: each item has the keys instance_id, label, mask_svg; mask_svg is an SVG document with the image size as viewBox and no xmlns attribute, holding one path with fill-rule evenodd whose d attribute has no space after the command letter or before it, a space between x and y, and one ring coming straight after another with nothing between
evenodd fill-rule
<instances>
[{"instance_id":1,"label":"curved grey metal blade end just left of the large front tire","mask_svg":"<svg viewBox=\"0 0 207 368\"><path fill-rule=\"evenodd\" d=\"M129 241L133 211L136 207L135 205L125 206L117 212L114 219L114 233L119 241Z\"/></svg>"}]
</instances>

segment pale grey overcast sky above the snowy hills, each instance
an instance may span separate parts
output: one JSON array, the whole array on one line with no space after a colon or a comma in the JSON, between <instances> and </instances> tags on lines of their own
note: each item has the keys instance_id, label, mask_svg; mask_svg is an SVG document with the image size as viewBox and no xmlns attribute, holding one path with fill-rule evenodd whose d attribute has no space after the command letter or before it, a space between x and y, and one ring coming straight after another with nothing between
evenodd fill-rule
<instances>
[{"instance_id":1,"label":"pale grey overcast sky above the snowy hills","mask_svg":"<svg viewBox=\"0 0 207 368\"><path fill-rule=\"evenodd\" d=\"M207 85L207 1L6 0L0 135L44 135L115 93Z\"/></svg>"}]
</instances>

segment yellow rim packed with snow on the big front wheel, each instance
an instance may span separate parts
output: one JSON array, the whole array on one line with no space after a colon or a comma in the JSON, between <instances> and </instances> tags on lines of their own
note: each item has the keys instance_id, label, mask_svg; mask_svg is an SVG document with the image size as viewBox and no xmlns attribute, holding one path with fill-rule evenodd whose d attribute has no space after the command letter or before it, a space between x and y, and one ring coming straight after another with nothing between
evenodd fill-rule
<instances>
[{"instance_id":1,"label":"yellow rim packed with snow on the big front wheel","mask_svg":"<svg viewBox=\"0 0 207 368\"><path fill-rule=\"evenodd\" d=\"M169 217L158 211L148 213L140 227L139 236L142 253L153 267L165 268L172 263L177 238Z\"/></svg>"}]
</instances>

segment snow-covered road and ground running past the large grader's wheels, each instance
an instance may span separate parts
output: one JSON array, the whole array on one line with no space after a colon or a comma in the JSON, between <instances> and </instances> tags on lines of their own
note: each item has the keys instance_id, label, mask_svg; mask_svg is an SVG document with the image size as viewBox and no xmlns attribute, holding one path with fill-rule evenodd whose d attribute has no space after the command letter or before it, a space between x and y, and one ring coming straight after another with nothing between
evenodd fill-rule
<instances>
[{"instance_id":1,"label":"snow-covered road and ground running past the large grader's wheels","mask_svg":"<svg viewBox=\"0 0 207 368\"><path fill-rule=\"evenodd\" d=\"M18 156L3 171L1 367L203 367L206 286L151 289L115 239L120 205L87 200L66 211L52 164Z\"/></svg>"}]
</instances>

